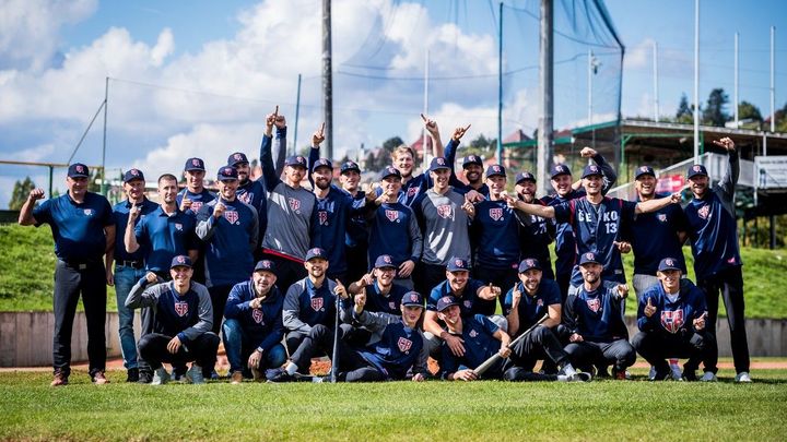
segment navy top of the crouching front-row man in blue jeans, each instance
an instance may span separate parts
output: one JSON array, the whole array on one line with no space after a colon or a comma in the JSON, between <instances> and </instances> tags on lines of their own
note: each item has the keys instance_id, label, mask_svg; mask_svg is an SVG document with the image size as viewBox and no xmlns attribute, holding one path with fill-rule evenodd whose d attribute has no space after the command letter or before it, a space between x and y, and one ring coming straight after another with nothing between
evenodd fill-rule
<instances>
[{"instance_id":1,"label":"navy top of the crouching front-row man in blue jeans","mask_svg":"<svg viewBox=\"0 0 787 442\"><path fill-rule=\"evenodd\" d=\"M244 333L261 351L268 351L279 344L284 336L282 310L284 296L279 287L271 287L259 309L249 307L257 297L254 280L236 284L230 291L224 318L240 322Z\"/></svg>"}]
</instances>

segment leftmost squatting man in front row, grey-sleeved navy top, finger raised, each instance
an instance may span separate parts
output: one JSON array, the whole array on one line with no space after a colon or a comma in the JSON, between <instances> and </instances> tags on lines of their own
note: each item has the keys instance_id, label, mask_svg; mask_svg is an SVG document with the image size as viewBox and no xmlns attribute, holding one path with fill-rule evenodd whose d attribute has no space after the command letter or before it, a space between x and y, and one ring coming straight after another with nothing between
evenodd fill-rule
<instances>
[{"instance_id":1,"label":"leftmost squatting man in front row, grey-sleeved navy top, finger raised","mask_svg":"<svg viewBox=\"0 0 787 442\"><path fill-rule=\"evenodd\" d=\"M191 361L186 379L201 384L202 367L213 367L219 348L219 336L211 332L213 306L208 288L191 280L193 270L188 256L173 258L169 275L173 280L164 283L155 273L148 272L126 299L130 309L153 308L153 332L140 338L140 356L155 370L153 385L169 381L162 362ZM150 286L156 282L160 284Z\"/></svg>"}]
</instances>

